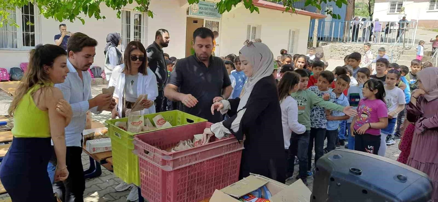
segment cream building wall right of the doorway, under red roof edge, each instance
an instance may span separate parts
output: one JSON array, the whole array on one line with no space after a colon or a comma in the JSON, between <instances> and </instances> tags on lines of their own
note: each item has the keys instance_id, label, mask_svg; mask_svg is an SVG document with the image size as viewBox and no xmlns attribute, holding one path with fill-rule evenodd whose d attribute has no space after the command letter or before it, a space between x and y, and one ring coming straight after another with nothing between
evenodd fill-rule
<instances>
[{"instance_id":1,"label":"cream building wall right of the doorway, under red roof edge","mask_svg":"<svg viewBox=\"0 0 438 202\"><path fill-rule=\"evenodd\" d=\"M307 53L307 36L310 17L291 13L282 13L272 9L259 7L260 14L250 13L245 7L238 7L222 15L219 32L220 56L230 53L238 55L247 37L247 25L261 25L260 39L274 54L280 55L281 49L287 49L289 29L297 29L296 53Z\"/></svg>"}]
</instances>

